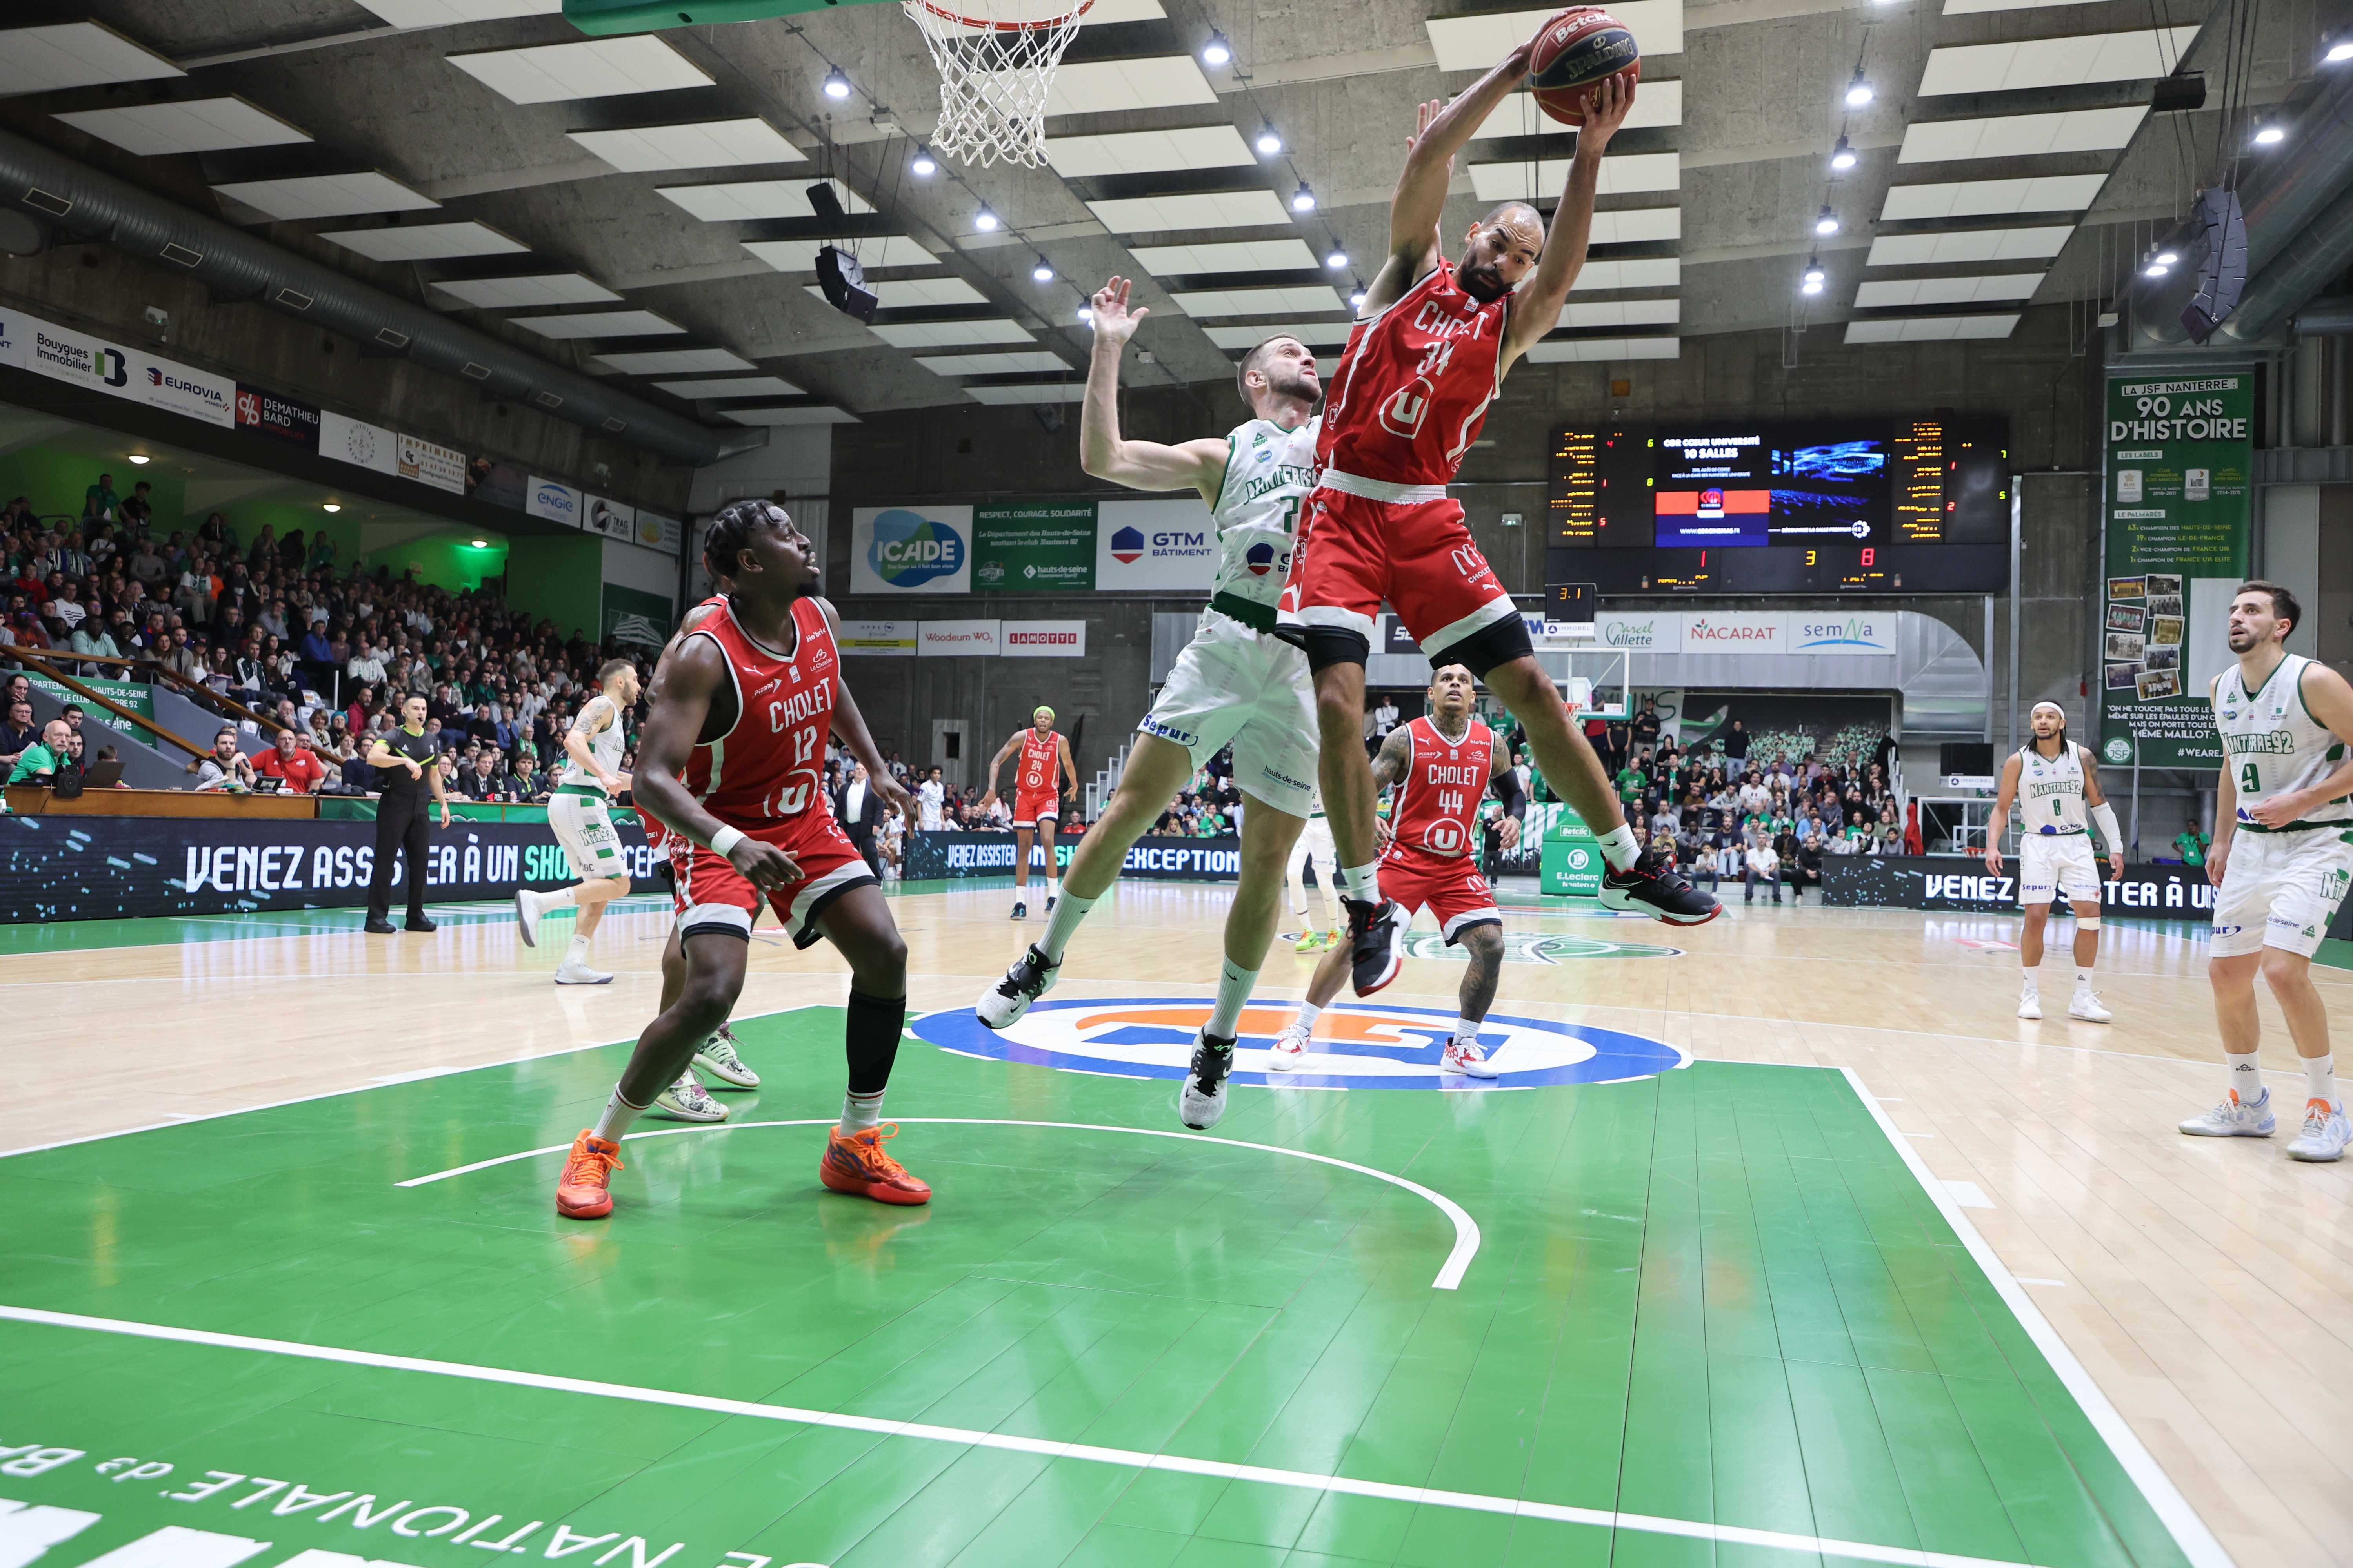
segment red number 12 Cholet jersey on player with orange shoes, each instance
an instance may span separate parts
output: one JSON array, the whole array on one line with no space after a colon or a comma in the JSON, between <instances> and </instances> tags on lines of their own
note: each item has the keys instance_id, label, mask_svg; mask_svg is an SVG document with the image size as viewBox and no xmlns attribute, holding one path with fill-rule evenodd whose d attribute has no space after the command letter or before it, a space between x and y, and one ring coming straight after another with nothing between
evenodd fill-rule
<instances>
[{"instance_id":1,"label":"red number 12 Cholet jersey on player with orange shoes","mask_svg":"<svg viewBox=\"0 0 2353 1568\"><path fill-rule=\"evenodd\" d=\"M736 691L736 722L687 757L682 783L704 811L729 827L767 827L793 818L833 823L826 802L826 731L842 675L840 649L816 599L793 602L793 651L753 642L725 599L689 637L708 637L727 654Z\"/></svg>"}]
</instances>

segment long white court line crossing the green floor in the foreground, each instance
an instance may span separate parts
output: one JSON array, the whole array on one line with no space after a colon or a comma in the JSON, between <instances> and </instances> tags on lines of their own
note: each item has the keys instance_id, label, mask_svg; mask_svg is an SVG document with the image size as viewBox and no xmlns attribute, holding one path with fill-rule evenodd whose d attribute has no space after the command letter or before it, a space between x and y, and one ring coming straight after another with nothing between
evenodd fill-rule
<instances>
[{"instance_id":1,"label":"long white court line crossing the green floor in the foreground","mask_svg":"<svg viewBox=\"0 0 2353 1568\"><path fill-rule=\"evenodd\" d=\"M1134 1128L1118 1128L1134 1131ZM1791 1535L1786 1530L1748 1530L1727 1523L1701 1523L1697 1519L1661 1519L1657 1514L1619 1514L1612 1509L1581 1509L1560 1502L1527 1502L1522 1497L1487 1497L1480 1493L1449 1493L1431 1486L1398 1486L1391 1481L1358 1481L1355 1476L1318 1476L1304 1469L1271 1469L1266 1465L1233 1465L1226 1460L1193 1460L1176 1453L1141 1453L1134 1448L1099 1448L1094 1443L1056 1443L1042 1436L1014 1436L1009 1432L976 1432L969 1427L934 1427L911 1420L878 1420L871 1415L847 1415L840 1410L802 1410L795 1406L769 1406L751 1399L718 1399L713 1394L678 1394L671 1389L642 1389L626 1382L595 1382L591 1378L558 1378L551 1373L518 1373L504 1366L468 1366L464 1361L428 1361L424 1356L388 1356L372 1349L336 1349L332 1345L299 1345L292 1340L261 1340L242 1333L212 1333L205 1328L172 1328L167 1324L134 1324L111 1316L82 1316L78 1312L42 1312L40 1307L0 1305L0 1319L16 1324L40 1324L45 1328L85 1328L89 1333L115 1333L132 1340L169 1340L176 1345L209 1345L214 1349L245 1349L268 1356L294 1356L301 1361L332 1361L339 1366L372 1366L393 1373L426 1373L435 1378L466 1378L471 1382L496 1382L522 1389L546 1389L553 1394L588 1394L593 1399L626 1399L645 1406L668 1406L675 1410L708 1410L713 1415L744 1415L751 1420L793 1422L798 1427L831 1427L835 1432L871 1432L875 1436L911 1436L932 1443L955 1443L960 1448L993 1448L998 1453L1026 1453L1045 1460L1085 1460L1092 1465L1122 1465L1127 1469L1160 1469L1184 1476L1214 1476L1221 1481L1257 1481L1261 1486L1292 1486L1311 1493L1339 1493L1346 1497L1379 1497L1384 1502L1414 1502L1424 1507L1466 1509L1475 1514L1511 1514L1518 1519L1546 1519L1555 1523L1581 1523L1600 1530L1635 1530L1642 1535L1678 1535L1682 1540L1713 1540L1739 1547L1769 1547L1802 1552L1807 1556L1835 1556L1859 1563L1901 1563L1904 1568L2028 1568L1993 1556L1955 1556L1951 1552L1920 1552L1918 1547L1875 1547L1859 1540L1826 1540L1821 1535ZM2228 1561L2228 1559L2221 1559Z\"/></svg>"}]
</instances>

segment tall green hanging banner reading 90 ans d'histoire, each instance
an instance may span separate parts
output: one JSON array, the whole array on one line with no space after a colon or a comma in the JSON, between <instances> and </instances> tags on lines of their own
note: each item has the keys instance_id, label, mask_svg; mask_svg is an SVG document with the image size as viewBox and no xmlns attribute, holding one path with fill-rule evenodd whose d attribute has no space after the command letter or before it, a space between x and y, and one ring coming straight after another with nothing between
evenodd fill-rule
<instances>
[{"instance_id":1,"label":"tall green hanging banner reading 90 ans d'histoire","mask_svg":"<svg viewBox=\"0 0 2353 1568\"><path fill-rule=\"evenodd\" d=\"M2207 679L2247 576L2254 376L2108 381L2099 755L2217 769Z\"/></svg>"}]
</instances>

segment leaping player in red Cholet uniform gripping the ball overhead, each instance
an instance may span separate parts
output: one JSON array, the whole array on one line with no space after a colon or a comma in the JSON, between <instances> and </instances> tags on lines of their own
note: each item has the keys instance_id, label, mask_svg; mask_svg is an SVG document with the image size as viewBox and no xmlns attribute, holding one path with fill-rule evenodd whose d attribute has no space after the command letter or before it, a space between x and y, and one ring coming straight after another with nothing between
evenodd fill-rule
<instances>
[{"instance_id":1,"label":"leaping player in red Cholet uniform gripping the ball overhead","mask_svg":"<svg viewBox=\"0 0 2353 1568\"><path fill-rule=\"evenodd\" d=\"M1504 371L1560 320L1586 263L1602 148L1633 103L1624 75L1586 94L1551 244L1534 207L1504 202L1471 226L1464 259L1447 266L1438 221L1454 153L1525 78L1527 45L1520 45L1459 99L1421 110L1421 134L1388 205L1388 261L1367 289L1325 395L1315 451L1322 477L1299 520L1299 550L1282 585L1280 630L1306 649L1315 672L1322 799L1339 849L1360 997L1395 978L1405 943L1402 912L1381 896L1374 867L1372 769L1360 743L1365 654L1381 599L1433 665L1468 668L1525 726L1544 780L1600 837L1607 907L1673 924L1722 912L1671 865L1642 860L1600 759L1537 663L1511 595L1471 543L1461 505L1447 498Z\"/></svg>"}]
</instances>

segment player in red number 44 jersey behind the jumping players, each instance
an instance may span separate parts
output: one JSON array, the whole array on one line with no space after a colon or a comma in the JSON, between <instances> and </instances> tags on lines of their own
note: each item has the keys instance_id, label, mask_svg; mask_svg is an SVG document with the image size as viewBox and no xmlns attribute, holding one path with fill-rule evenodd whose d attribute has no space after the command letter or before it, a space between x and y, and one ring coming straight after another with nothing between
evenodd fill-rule
<instances>
[{"instance_id":1,"label":"player in red number 44 jersey behind the jumping players","mask_svg":"<svg viewBox=\"0 0 2353 1568\"><path fill-rule=\"evenodd\" d=\"M1388 731L1381 755L1372 759L1372 788L1398 790L1388 849L1381 851L1381 891L1398 905L1398 924L1407 926L1417 910L1428 910L1438 917L1440 936L1471 954L1461 1016L1438 1051L1438 1070L1492 1079L1497 1067L1478 1044L1478 1030L1504 973L1504 912L1494 907L1494 889L1478 872L1478 806L1489 780L1511 778L1511 755L1501 736L1471 717L1475 689L1468 665L1440 665L1431 679L1428 717ZM1504 849L1518 844L1520 823L1506 816ZM1332 1004L1346 978L1348 950L1332 947L1308 980L1306 1004L1266 1053L1271 1072L1289 1072L1301 1063L1315 1037L1315 1016Z\"/></svg>"}]
</instances>

